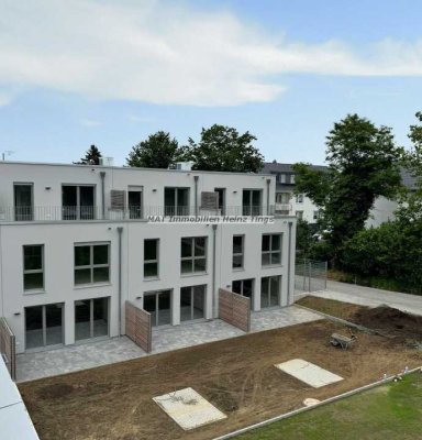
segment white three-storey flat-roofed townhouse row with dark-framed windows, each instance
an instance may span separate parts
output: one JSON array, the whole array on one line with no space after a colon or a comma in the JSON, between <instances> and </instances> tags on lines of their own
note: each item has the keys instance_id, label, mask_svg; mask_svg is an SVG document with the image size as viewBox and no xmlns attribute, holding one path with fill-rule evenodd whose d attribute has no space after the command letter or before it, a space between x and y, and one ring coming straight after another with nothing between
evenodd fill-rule
<instances>
[{"instance_id":1,"label":"white three-storey flat-roofed townhouse row with dark-framed windows","mask_svg":"<svg viewBox=\"0 0 422 440\"><path fill-rule=\"evenodd\" d=\"M293 301L296 218L263 174L0 163L0 316L16 351L124 333L124 304L177 326Z\"/></svg>"}]
</instances>

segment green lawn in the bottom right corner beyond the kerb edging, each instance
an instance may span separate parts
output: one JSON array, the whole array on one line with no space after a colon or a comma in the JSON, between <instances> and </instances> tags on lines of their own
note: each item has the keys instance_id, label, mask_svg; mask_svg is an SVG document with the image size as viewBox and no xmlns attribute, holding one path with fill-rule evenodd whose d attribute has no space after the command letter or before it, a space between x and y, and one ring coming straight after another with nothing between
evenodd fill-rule
<instances>
[{"instance_id":1,"label":"green lawn in the bottom right corner beyond the kerb edging","mask_svg":"<svg viewBox=\"0 0 422 440\"><path fill-rule=\"evenodd\" d=\"M236 439L422 439L422 374L256 429Z\"/></svg>"}]
</instances>

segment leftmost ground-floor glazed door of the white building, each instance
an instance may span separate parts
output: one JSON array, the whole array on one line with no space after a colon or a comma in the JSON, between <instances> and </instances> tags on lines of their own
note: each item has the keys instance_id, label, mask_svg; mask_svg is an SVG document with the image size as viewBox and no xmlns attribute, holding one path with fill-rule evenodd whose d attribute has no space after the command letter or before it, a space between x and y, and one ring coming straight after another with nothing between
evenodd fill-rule
<instances>
[{"instance_id":1,"label":"leftmost ground-floor glazed door of the white building","mask_svg":"<svg viewBox=\"0 0 422 440\"><path fill-rule=\"evenodd\" d=\"M25 308L26 350L63 343L64 304Z\"/></svg>"}]
</instances>

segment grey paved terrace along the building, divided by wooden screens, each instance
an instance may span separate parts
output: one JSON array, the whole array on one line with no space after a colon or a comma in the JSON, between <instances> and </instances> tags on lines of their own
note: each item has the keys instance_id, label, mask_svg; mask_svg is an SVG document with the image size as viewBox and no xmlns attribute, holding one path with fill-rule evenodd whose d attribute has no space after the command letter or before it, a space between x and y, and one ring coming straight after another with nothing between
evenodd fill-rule
<instances>
[{"instance_id":1,"label":"grey paved terrace along the building, divided by wooden screens","mask_svg":"<svg viewBox=\"0 0 422 440\"><path fill-rule=\"evenodd\" d=\"M299 307L269 309L252 315L252 332L315 321L321 316ZM153 352L163 353L245 334L222 321L198 321L153 329ZM18 355L16 382L55 376L148 355L129 338L112 338L80 345Z\"/></svg>"}]
</instances>

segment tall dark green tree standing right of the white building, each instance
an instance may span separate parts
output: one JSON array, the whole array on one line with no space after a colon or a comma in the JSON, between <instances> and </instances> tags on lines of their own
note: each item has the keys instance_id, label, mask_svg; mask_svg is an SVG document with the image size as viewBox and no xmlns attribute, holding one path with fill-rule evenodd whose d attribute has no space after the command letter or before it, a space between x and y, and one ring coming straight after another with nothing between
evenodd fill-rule
<instances>
[{"instance_id":1,"label":"tall dark green tree standing right of the white building","mask_svg":"<svg viewBox=\"0 0 422 440\"><path fill-rule=\"evenodd\" d=\"M391 129L377 128L365 118L348 114L326 138L329 172L295 166L297 191L322 208L322 228L335 266L341 267L343 243L365 227L377 197L393 197L400 186L402 148Z\"/></svg>"}]
</instances>

